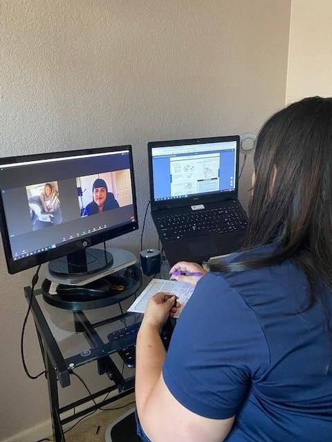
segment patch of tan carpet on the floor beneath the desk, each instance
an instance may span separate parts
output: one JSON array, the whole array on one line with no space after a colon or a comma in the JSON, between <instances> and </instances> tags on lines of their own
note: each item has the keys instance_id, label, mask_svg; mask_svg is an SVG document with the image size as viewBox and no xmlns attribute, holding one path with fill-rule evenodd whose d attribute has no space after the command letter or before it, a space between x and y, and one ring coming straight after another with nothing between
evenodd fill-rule
<instances>
[{"instance_id":1,"label":"patch of tan carpet on the floor beneath the desk","mask_svg":"<svg viewBox=\"0 0 332 442\"><path fill-rule=\"evenodd\" d=\"M109 424L133 408L135 406L132 403L134 400L134 394L129 394L129 396L125 396L115 403L105 405L105 408L115 408L130 403L130 405L120 408L120 410L98 412L92 414L91 417L87 417L78 423L73 430L65 434L66 442L104 442L105 431ZM50 438L50 440L52 439Z\"/></svg>"}]
</instances>

